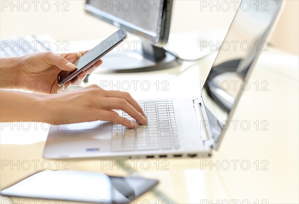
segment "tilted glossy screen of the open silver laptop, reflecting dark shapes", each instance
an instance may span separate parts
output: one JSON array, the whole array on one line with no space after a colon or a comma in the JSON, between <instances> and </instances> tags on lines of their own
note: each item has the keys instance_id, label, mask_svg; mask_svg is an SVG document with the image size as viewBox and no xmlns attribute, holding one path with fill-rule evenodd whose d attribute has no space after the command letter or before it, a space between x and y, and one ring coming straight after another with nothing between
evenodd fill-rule
<instances>
[{"instance_id":1,"label":"tilted glossy screen of the open silver laptop, reflecting dark shapes","mask_svg":"<svg viewBox=\"0 0 299 204\"><path fill-rule=\"evenodd\" d=\"M216 143L240 94L253 88L246 81L260 52L268 51L266 41L282 0L242 0L201 90L210 133ZM212 128L212 129L211 129Z\"/></svg>"}]
</instances>

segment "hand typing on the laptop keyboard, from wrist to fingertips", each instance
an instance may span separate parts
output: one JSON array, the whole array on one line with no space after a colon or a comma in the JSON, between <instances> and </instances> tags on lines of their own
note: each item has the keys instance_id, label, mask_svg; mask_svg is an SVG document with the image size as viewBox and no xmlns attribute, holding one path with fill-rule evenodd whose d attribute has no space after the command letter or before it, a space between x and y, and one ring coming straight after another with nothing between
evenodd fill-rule
<instances>
[{"instance_id":1,"label":"hand typing on the laptop keyboard, from wrist to fingertips","mask_svg":"<svg viewBox=\"0 0 299 204\"><path fill-rule=\"evenodd\" d=\"M139 124L146 124L146 115L139 104L127 92L106 91L97 85L61 94L47 95L43 102L43 120L50 124L110 121L128 128L136 123L125 119L113 109L123 110ZM57 122L58 121L58 122Z\"/></svg>"}]
</instances>

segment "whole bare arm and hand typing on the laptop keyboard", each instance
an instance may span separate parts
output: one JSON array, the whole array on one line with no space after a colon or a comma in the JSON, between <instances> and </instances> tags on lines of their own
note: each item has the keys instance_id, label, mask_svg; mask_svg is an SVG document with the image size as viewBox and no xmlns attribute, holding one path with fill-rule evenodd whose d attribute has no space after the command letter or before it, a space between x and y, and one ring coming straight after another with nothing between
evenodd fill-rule
<instances>
[{"instance_id":1,"label":"whole bare arm and hand typing on the laptop keyboard","mask_svg":"<svg viewBox=\"0 0 299 204\"><path fill-rule=\"evenodd\" d=\"M147 123L146 115L127 92L106 91L97 85L58 94L26 93L1 90L0 118L6 122L42 122L53 125L90 121L110 121L128 128L136 123L115 110L123 110L139 124Z\"/></svg>"}]
</instances>

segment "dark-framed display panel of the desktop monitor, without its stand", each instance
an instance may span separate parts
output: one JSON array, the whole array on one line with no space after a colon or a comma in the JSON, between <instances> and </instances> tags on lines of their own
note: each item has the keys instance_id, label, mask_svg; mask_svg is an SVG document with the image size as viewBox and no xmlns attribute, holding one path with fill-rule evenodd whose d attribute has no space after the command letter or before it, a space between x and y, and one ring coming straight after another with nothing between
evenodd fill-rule
<instances>
[{"instance_id":1,"label":"dark-framed display panel of the desktop monitor, without its stand","mask_svg":"<svg viewBox=\"0 0 299 204\"><path fill-rule=\"evenodd\" d=\"M96 17L159 45L168 40L172 0L87 0Z\"/></svg>"}]
</instances>

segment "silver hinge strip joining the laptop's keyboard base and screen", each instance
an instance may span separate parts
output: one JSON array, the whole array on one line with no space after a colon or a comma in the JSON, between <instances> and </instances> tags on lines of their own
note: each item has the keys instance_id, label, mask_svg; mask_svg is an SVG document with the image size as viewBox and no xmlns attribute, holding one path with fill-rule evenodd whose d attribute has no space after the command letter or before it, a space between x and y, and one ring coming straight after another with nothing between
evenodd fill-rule
<instances>
[{"instance_id":1,"label":"silver hinge strip joining the laptop's keyboard base and screen","mask_svg":"<svg viewBox=\"0 0 299 204\"><path fill-rule=\"evenodd\" d=\"M198 98L193 99L193 107L195 109L196 117L198 120L198 124L200 127L202 127L202 130L205 130L206 134L200 134L204 145L211 146L213 148L215 144L214 138L211 136L211 132L209 130L209 125L203 125L201 119L206 123L208 122L207 118L205 117L205 112L203 110L204 107L202 107L202 101Z\"/></svg>"}]
</instances>

